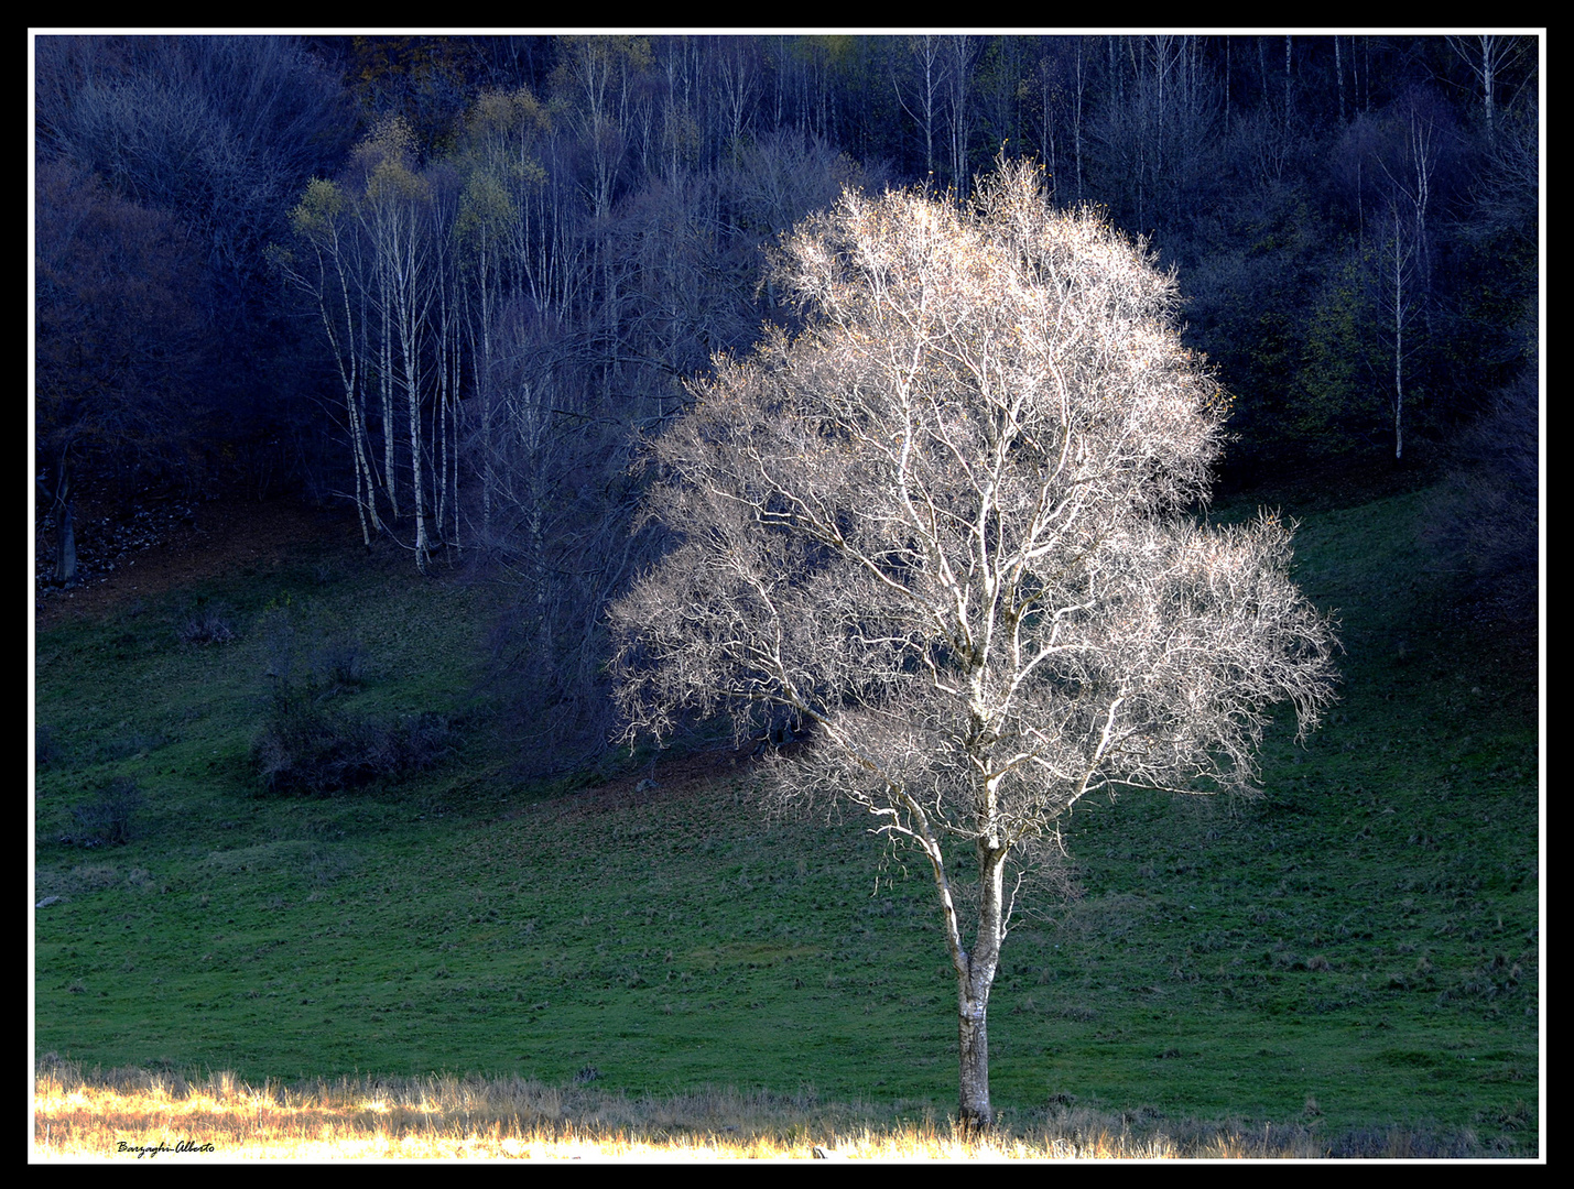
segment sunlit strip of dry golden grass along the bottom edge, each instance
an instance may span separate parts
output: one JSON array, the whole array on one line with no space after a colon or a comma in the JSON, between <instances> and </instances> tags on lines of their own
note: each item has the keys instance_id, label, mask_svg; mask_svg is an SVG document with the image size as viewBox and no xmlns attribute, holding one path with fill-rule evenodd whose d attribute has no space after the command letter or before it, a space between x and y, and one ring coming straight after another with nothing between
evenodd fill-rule
<instances>
[{"instance_id":1,"label":"sunlit strip of dry golden grass along the bottom edge","mask_svg":"<svg viewBox=\"0 0 1574 1189\"><path fill-rule=\"evenodd\" d=\"M246 1085L123 1069L38 1069L33 1159L1239 1159L1264 1151L1239 1136L1182 1145L1138 1139L1096 1118L1037 1132L966 1139L949 1123L859 1120L853 1109L732 1090L633 1101L524 1079L342 1079Z\"/></svg>"}]
</instances>

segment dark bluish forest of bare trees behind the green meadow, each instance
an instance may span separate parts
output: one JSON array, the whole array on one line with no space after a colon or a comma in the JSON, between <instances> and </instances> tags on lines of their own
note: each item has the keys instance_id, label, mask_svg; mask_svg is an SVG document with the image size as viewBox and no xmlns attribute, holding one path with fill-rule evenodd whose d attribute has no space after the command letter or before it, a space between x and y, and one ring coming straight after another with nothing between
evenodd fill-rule
<instances>
[{"instance_id":1,"label":"dark bluish forest of bare trees behind the green meadow","mask_svg":"<svg viewBox=\"0 0 1574 1189\"><path fill-rule=\"evenodd\" d=\"M552 764L663 547L642 436L790 321L774 237L1001 157L1177 269L1234 395L1221 489L1401 470L1439 568L1533 623L1532 36L39 36L36 519L285 494L504 577Z\"/></svg>"}]
</instances>

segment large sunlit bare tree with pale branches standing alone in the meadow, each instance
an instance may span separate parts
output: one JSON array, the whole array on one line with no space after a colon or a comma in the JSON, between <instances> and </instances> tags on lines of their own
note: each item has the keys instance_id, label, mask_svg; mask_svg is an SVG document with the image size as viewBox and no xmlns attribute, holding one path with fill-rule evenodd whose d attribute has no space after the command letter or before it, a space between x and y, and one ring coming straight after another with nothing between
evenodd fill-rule
<instances>
[{"instance_id":1,"label":"large sunlit bare tree with pale branches standing alone in the meadow","mask_svg":"<svg viewBox=\"0 0 1574 1189\"><path fill-rule=\"evenodd\" d=\"M985 1011L1036 863L1084 796L1251 791L1265 708L1330 701L1327 617L1272 516L1217 530L1228 401L1176 285L1039 171L976 206L839 206L785 241L811 315L716 360L653 445L672 552L612 610L630 738L680 714L804 723L773 766L929 860L955 975L960 1118L988 1126ZM1040 868L1042 870L1042 868Z\"/></svg>"}]
</instances>

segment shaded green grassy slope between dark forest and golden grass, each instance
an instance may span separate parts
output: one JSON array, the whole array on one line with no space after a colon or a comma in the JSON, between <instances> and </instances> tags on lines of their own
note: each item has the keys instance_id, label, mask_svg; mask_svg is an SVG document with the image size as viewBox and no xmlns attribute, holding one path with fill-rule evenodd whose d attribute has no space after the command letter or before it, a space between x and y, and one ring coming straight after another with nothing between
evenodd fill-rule
<instances>
[{"instance_id":1,"label":"shaded green grassy slope between dark forest and golden grass","mask_svg":"<svg viewBox=\"0 0 1574 1189\"><path fill-rule=\"evenodd\" d=\"M1302 525L1299 577L1339 609L1347 656L1310 745L1270 739L1265 797L1073 815L1081 900L1006 942L998 1107L1536 1150L1535 667L1429 585L1423 503ZM236 642L179 642L198 598ZM642 804L505 775L474 692L485 617L456 582L316 555L42 632L35 882L61 900L36 912L38 1052L952 1109L924 870L881 870L856 819L767 826L743 769ZM367 679L335 705L453 714L461 755L398 786L260 797L250 744L283 618L297 656L364 646ZM142 835L55 843L116 775L146 794Z\"/></svg>"}]
</instances>

